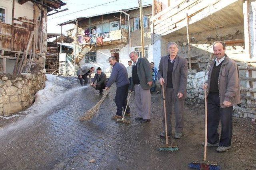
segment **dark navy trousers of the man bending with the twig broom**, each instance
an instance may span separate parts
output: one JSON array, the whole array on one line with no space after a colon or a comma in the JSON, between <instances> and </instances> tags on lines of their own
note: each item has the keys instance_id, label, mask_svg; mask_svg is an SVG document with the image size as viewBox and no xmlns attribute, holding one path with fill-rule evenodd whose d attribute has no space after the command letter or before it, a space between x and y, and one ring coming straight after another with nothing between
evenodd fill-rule
<instances>
[{"instance_id":1,"label":"dark navy trousers of the man bending with the twig broom","mask_svg":"<svg viewBox=\"0 0 256 170\"><path fill-rule=\"evenodd\" d=\"M122 116L123 109L125 110L127 104L127 96L128 96L128 88L129 84L116 88L116 115ZM126 113L130 113L130 107L127 106Z\"/></svg>"}]
</instances>

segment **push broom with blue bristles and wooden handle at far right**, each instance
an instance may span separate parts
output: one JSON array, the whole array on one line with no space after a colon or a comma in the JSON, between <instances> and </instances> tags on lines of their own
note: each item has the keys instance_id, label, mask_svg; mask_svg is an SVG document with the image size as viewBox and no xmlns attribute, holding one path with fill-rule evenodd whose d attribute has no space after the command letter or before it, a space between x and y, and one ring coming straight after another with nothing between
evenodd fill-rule
<instances>
[{"instance_id":1,"label":"push broom with blue bristles and wooden handle at far right","mask_svg":"<svg viewBox=\"0 0 256 170\"><path fill-rule=\"evenodd\" d=\"M206 149L207 149L207 100L206 89L204 88L204 112L205 112L205 132L204 132L204 160L201 162L191 162L188 166L190 168L198 170L220 170L220 166L216 163L206 161Z\"/></svg>"}]
</instances>

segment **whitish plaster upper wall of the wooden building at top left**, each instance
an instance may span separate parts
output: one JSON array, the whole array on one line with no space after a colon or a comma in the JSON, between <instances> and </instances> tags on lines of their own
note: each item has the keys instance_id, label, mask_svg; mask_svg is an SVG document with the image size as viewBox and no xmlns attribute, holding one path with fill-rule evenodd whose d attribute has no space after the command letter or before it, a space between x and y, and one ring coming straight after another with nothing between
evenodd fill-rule
<instances>
[{"instance_id":1,"label":"whitish plaster upper wall of the wooden building at top left","mask_svg":"<svg viewBox=\"0 0 256 170\"><path fill-rule=\"evenodd\" d=\"M12 0L0 0L0 7L6 9L6 23L12 23ZM22 5L18 3L18 0L15 0L14 6L14 18L24 17L27 19L33 19L33 3L28 1Z\"/></svg>"}]
</instances>

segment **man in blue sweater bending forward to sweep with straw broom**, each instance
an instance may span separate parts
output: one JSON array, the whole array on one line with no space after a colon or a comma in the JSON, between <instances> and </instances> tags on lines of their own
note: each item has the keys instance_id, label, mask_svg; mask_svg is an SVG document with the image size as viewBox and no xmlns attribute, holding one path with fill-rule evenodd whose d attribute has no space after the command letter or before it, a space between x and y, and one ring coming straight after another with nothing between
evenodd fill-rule
<instances>
[{"instance_id":1,"label":"man in blue sweater bending forward to sweep with straw broom","mask_svg":"<svg viewBox=\"0 0 256 170\"><path fill-rule=\"evenodd\" d=\"M108 58L108 62L110 63L112 68L112 72L110 78L108 80L108 84L106 85L106 90L109 90L110 86L116 82L116 115L114 115L111 119L122 119L122 111L125 110L127 104L127 96L129 89L129 79L128 73L124 66L124 64L118 63L116 61L116 57L112 56ZM125 115L130 116L130 107L127 106Z\"/></svg>"}]
</instances>

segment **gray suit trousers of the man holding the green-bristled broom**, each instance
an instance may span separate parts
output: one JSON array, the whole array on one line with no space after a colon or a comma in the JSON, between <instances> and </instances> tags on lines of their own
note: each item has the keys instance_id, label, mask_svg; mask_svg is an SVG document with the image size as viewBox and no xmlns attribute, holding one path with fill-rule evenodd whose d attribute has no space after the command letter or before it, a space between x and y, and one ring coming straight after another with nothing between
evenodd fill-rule
<instances>
[{"instance_id":1,"label":"gray suit trousers of the man holding the green-bristled broom","mask_svg":"<svg viewBox=\"0 0 256 170\"><path fill-rule=\"evenodd\" d=\"M166 119L167 119L167 132L172 133L172 103L174 102L175 112L175 133L182 133L184 121L184 99L178 100L177 94L174 94L173 88L166 87L165 90L165 103L166 103ZM163 107L163 129L165 131L164 124L164 107Z\"/></svg>"}]
</instances>

